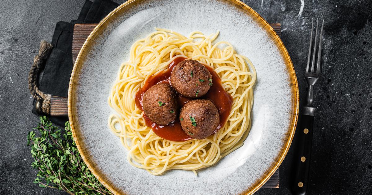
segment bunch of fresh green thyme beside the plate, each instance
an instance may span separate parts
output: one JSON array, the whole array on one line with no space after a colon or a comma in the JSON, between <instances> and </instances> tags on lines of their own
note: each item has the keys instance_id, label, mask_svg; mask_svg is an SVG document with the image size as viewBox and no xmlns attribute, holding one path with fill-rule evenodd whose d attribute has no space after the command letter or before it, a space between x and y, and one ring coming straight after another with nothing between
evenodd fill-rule
<instances>
[{"instance_id":1,"label":"bunch of fresh green thyme beside the plate","mask_svg":"<svg viewBox=\"0 0 372 195\"><path fill-rule=\"evenodd\" d=\"M61 131L47 117L40 117L40 137L34 131L27 135L27 144L35 159L31 166L38 169L38 183L42 188L55 188L68 194L111 194L90 172L76 148L70 123Z\"/></svg>"}]
</instances>

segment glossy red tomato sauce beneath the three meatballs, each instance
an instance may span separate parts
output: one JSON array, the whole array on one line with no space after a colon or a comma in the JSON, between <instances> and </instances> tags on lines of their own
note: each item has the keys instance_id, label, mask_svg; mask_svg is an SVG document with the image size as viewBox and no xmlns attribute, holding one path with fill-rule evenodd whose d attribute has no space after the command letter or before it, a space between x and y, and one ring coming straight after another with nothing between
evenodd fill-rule
<instances>
[{"instance_id":1,"label":"glossy red tomato sauce beneath the three meatballs","mask_svg":"<svg viewBox=\"0 0 372 195\"><path fill-rule=\"evenodd\" d=\"M187 58L178 57L174 59L170 64L169 67L164 70L163 72L152 75L149 77L145 83L145 85L136 93L136 104L137 107L140 108L140 110L143 111L142 107L142 97L143 94L153 85L158 83L167 82L170 84L170 74L174 68L179 62L185 60ZM209 91L200 97L200 99L208 99L211 100L217 107L218 113L219 113L219 124L218 127L215 129L213 133L216 133L221 127L223 127L227 121L227 117L230 114L231 105L232 105L232 97L230 94L228 94L225 91L225 88L222 86L221 79L217 75L217 73L210 67L205 65L205 67L208 69L208 71L212 75L213 85L211 88L209 88ZM183 105L187 103L187 101L193 100L192 98L188 98L185 96L182 96L177 93L177 102L179 105L179 108L182 108ZM143 114L143 117L145 118L146 126L151 127L153 131L161 138L175 141L175 142L182 142L186 140L193 139L188 134L185 133L185 131L182 130L179 117L176 118L175 121L171 122L167 125L160 125L157 123L154 123L146 116L146 114Z\"/></svg>"}]
</instances>

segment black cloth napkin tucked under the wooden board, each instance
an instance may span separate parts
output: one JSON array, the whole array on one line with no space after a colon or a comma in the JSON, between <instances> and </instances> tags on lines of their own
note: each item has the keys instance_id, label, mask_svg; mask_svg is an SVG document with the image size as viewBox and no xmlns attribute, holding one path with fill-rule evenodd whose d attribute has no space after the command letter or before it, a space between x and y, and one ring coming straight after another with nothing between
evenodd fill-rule
<instances>
[{"instance_id":1,"label":"black cloth napkin tucked under the wooden board","mask_svg":"<svg viewBox=\"0 0 372 195\"><path fill-rule=\"evenodd\" d=\"M53 96L67 97L70 82L72 61L72 38L74 25L78 23L99 23L107 14L118 7L119 4L110 0L86 0L76 20L71 22L58 22L55 26L52 45L54 46L47 61L44 71L40 75L39 88L41 91ZM33 102L32 113L38 114ZM51 117L49 119L60 126L68 117Z\"/></svg>"}]
</instances>

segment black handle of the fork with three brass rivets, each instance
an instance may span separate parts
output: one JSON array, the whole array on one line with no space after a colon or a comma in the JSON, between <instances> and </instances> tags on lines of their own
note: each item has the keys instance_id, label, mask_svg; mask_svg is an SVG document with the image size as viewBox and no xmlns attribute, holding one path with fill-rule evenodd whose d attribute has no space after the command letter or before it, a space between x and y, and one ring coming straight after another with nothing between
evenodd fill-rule
<instances>
[{"instance_id":1,"label":"black handle of the fork with three brass rivets","mask_svg":"<svg viewBox=\"0 0 372 195\"><path fill-rule=\"evenodd\" d=\"M314 116L302 115L293 160L291 189L294 195L305 195L308 189L313 126Z\"/></svg>"}]
</instances>

